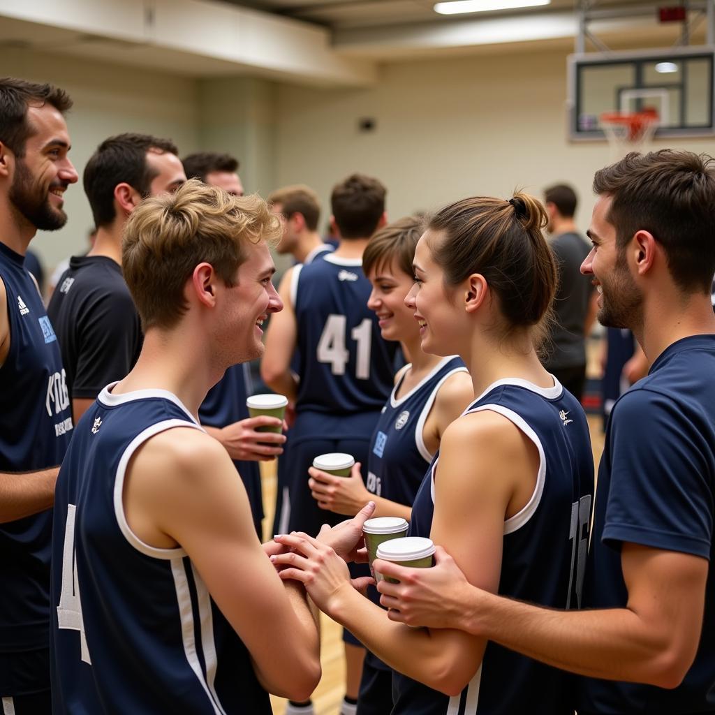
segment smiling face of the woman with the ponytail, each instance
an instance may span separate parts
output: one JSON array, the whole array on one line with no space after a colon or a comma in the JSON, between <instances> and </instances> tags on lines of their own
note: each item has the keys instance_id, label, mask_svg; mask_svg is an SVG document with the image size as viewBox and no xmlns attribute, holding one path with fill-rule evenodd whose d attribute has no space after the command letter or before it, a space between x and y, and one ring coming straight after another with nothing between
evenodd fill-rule
<instances>
[{"instance_id":1,"label":"smiling face of the woman with the ponytail","mask_svg":"<svg viewBox=\"0 0 715 715\"><path fill-rule=\"evenodd\" d=\"M413 262L415 282L405 305L418 322L424 352L460 355L467 336L466 314L459 310L457 292L445 288L444 272L433 260L430 245L441 240L442 232L427 230L418 241Z\"/></svg>"}]
</instances>

